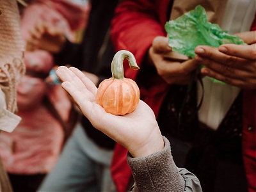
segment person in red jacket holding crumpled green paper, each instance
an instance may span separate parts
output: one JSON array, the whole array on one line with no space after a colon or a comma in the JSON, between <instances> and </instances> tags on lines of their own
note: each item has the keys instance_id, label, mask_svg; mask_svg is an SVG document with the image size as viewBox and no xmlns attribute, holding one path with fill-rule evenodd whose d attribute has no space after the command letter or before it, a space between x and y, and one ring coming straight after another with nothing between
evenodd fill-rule
<instances>
[{"instance_id":1,"label":"person in red jacket holding crumpled green paper","mask_svg":"<svg viewBox=\"0 0 256 192\"><path fill-rule=\"evenodd\" d=\"M164 24L174 13L182 15L198 4L209 8L209 15L216 12L210 22L220 24L232 35L239 33L248 45L227 45L220 49L199 46L195 50L196 58L183 62L164 57L172 52ZM141 68L134 71L124 65L125 77L136 81L141 99L154 110L162 134L170 140L177 166L193 172L203 191L256 190L255 31L248 32L255 30L254 18L255 1L252 0L228 0L227 4L223 1L125 0L116 8L111 28L115 49L131 51ZM225 84L213 83L204 77L204 101L197 111L202 92L200 81L193 81L191 74L200 65L206 65L200 71L203 76L214 77ZM187 93L189 81L191 91ZM125 149L116 145L112 169L120 191L131 178L131 170L124 165L125 156ZM126 180L120 179L121 175Z\"/></svg>"}]
</instances>

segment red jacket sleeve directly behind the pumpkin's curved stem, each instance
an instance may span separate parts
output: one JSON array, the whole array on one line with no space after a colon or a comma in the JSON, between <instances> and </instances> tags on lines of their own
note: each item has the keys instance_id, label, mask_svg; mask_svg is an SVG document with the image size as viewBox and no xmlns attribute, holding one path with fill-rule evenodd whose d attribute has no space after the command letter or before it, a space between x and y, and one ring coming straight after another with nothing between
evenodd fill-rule
<instances>
[{"instance_id":1,"label":"red jacket sleeve directly behind the pumpkin's curved stem","mask_svg":"<svg viewBox=\"0 0 256 192\"><path fill-rule=\"evenodd\" d=\"M151 1L124 1L116 8L111 24L111 38L116 51L125 49L134 54L141 66L152 40L156 36L165 36L163 26L159 23L156 4ZM125 77L135 79L138 71L129 70L124 65Z\"/></svg>"}]
</instances>

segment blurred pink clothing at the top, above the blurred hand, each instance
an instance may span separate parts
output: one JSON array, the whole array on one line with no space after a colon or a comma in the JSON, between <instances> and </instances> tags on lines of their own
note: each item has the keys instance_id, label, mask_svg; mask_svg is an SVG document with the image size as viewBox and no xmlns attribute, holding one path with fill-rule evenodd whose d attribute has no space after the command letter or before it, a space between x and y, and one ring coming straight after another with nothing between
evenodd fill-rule
<instances>
[{"instance_id":1,"label":"blurred pink clothing at the top, above the blurred hand","mask_svg":"<svg viewBox=\"0 0 256 192\"><path fill-rule=\"evenodd\" d=\"M43 20L60 28L73 42L74 31L86 26L89 12L90 5L81 7L65 0L33 0L22 13L22 37L26 40L31 26Z\"/></svg>"}]
</instances>

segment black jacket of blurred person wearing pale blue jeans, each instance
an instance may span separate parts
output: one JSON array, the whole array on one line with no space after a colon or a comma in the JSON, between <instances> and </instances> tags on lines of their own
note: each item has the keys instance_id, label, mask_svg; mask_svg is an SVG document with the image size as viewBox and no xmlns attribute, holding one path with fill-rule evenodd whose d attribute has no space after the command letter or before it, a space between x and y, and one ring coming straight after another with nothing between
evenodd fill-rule
<instances>
[{"instance_id":1,"label":"black jacket of blurred person wearing pale blue jeans","mask_svg":"<svg viewBox=\"0 0 256 192\"><path fill-rule=\"evenodd\" d=\"M54 55L56 64L69 64L79 70L95 74L100 82L111 77L111 61L115 51L109 38L109 26L117 4L117 0L92 1L88 28L84 31L83 41L81 44L72 44L67 41L63 50ZM106 149L114 148L115 141L95 129L85 116L81 124L86 134L97 145Z\"/></svg>"}]
</instances>

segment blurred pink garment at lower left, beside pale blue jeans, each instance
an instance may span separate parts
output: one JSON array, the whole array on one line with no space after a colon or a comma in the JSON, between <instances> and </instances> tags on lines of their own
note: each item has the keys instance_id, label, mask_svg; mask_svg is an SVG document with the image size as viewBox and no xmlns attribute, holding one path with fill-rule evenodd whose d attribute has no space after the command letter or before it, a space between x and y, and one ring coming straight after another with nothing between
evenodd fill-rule
<instances>
[{"instance_id":1,"label":"blurred pink garment at lower left, beside pale blue jeans","mask_svg":"<svg viewBox=\"0 0 256 192\"><path fill-rule=\"evenodd\" d=\"M52 170L60 155L63 131L60 123L40 106L19 111L22 117L12 132L1 132L0 152L8 173L35 174Z\"/></svg>"}]
</instances>

